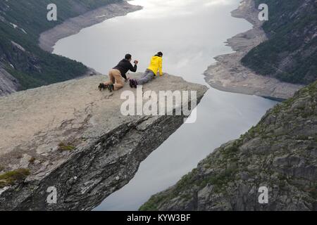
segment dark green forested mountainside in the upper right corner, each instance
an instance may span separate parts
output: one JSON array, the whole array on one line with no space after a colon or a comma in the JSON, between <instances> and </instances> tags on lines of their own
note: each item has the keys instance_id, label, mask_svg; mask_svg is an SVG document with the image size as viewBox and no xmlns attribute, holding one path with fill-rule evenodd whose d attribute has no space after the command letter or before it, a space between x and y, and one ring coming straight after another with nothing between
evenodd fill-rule
<instances>
[{"instance_id":1,"label":"dark green forested mountainside in the upper right corner","mask_svg":"<svg viewBox=\"0 0 317 225\"><path fill-rule=\"evenodd\" d=\"M268 4L263 30L268 41L252 49L242 63L282 82L310 84L317 79L317 1L254 0Z\"/></svg>"}]
</instances>

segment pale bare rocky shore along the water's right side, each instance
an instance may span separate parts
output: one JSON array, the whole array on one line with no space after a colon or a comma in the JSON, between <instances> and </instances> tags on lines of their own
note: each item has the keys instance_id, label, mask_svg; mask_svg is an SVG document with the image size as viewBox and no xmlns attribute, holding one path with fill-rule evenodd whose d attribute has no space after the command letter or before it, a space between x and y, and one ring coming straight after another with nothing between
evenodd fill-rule
<instances>
[{"instance_id":1,"label":"pale bare rocky shore along the water's right side","mask_svg":"<svg viewBox=\"0 0 317 225\"><path fill-rule=\"evenodd\" d=\"M256 75L244 67L240 60L255 46L267 40L262 30L262 22L258 19L259 11L254 0L243 0L232 16L244 18L254 25L253 29L237 34L228 39L235 53L217 56L217 63L211 65L204 73L205 80L213 88L241 94L264 96L273 99L285 99L293 96L302 85L280 82L278 79Z\"/></svg>"}]
</instances>

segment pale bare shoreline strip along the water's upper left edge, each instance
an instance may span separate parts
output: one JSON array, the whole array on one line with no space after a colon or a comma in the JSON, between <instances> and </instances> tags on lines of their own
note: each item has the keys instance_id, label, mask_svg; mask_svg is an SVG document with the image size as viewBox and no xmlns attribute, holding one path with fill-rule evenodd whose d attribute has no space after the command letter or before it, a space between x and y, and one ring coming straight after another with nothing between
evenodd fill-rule
<instances>
[{"instance_id":1,"label":"pale bare shoreline strip along the water's upper left edge","mask_svg":"<svg viewBox=\"0 0 317 225\"><path fill-rule=\"evenodd\" d=\"M44 51L52 52L54 50L53 46L59 39L77 34L85 27L90 27L116 16L127 15L140 9L142 9L142 6L133 6L128 4L127 1L97 8L75 18L70 18L61 25L43 32L39 37L39 46Z\"/></svg>"}]
</instances>

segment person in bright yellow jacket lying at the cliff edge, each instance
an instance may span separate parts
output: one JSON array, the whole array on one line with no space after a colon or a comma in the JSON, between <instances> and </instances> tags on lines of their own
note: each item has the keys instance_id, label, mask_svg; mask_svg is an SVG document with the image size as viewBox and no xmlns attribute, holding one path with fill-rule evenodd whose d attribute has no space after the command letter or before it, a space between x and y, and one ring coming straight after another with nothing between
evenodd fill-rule
<instances>
[{"instance_id":1,"label":"person in bright yellow jacket lying at the cliff edge","mask_svg":"<svg viewBox=\"0 0 317 225\"><path fill-rule=\"evenodd\" d=\"M130 79L130 87L137 88L137 85L143 85L150 82L156 77L158 72L160 76L163 76L162 64L163 53L160 51L155 56L152 56L149 68L145 70L144 75L140 79Z\"/></svg>"}]
</instances>

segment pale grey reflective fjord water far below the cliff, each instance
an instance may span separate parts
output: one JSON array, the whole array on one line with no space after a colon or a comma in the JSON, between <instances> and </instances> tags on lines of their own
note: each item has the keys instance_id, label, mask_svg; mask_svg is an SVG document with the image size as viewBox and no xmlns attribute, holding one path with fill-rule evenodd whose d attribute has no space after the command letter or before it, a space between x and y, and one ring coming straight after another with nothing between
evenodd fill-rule
<instances>
[{"instance_id":1,"label":"pale grey reflective fjord water far below the cliff","mask_svg":"<svg viewBox=\"0 0 317 225\"><path fill-rule=\"evenodd\" d=\"M54 53L78 60L99 72L113 68L125 53L139 70L163 51L163 70L189 82L204 82L213 57L230 53L224 41L251 28L232 18L240 0L135 0L142 11L106 20L58 41ZM133 76L133 75L131 75ZM159 79L164 79L161 77ZM149 197L176 183L221 144L236 139L275 105L258 96L210 89L197 107L197 122L183 124L142 162L130 183L95 210L137 210Z\"/></svg>"}]
</instances>

